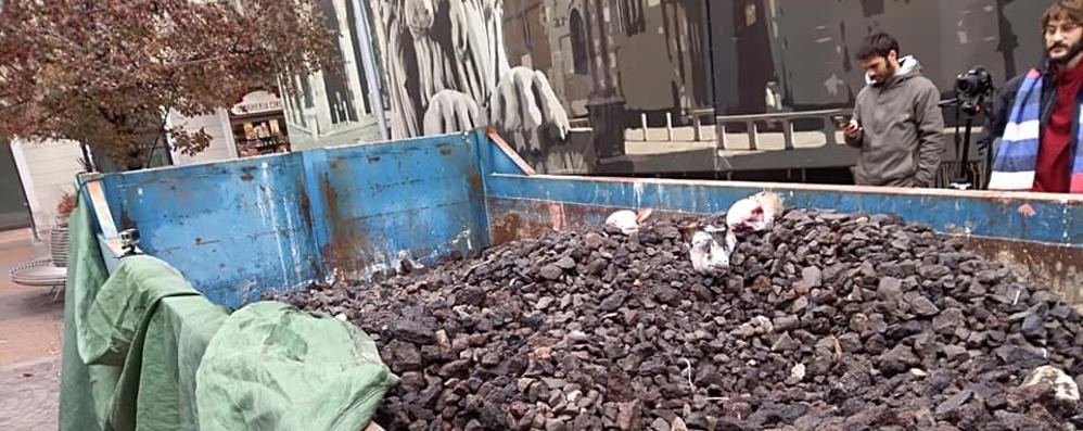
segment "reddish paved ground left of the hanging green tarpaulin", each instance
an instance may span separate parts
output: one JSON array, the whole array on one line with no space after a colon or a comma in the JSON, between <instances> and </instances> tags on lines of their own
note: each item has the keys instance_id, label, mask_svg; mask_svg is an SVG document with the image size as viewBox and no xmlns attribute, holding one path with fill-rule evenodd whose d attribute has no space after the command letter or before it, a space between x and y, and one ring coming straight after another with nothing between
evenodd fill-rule
<instances>
[{"instance_id":1,"label":"reddish paved ground left of the hanging green tarpaulin","mask_svg":"<svg viewBox=\"0 0 1083 431\"><path fill-rule=\"evenodd\" d=\"M46 255L29 230L0 232L0 430L55 430L63 302L11 283L8 269Z\"/></svg>"}]
</instances>

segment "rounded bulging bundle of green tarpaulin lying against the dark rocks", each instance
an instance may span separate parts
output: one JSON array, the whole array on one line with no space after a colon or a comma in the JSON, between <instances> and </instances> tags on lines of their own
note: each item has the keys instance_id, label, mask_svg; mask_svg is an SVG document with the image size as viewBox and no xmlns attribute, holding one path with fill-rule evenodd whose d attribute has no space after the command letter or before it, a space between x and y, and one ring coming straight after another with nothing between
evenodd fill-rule
<instances>
[{"instance_id":1,"label":"rounded bulging bundle of green tarpaulin lying against the dark rocks","mask_svg":"<svg viewBox=\"0 0 1083 431\"><path fill-rule=\"evenodd\" d=\"M358 431L396 381L354 326L256 303L233 313L207 346L196 377L200 424Z\"/></svg>"}]
</instances>

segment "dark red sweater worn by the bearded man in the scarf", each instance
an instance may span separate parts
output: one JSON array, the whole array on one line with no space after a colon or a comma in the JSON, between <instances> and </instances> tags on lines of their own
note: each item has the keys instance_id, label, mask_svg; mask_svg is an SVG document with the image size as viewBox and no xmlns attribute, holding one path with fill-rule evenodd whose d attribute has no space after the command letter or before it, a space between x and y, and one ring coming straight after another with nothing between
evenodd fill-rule
<instances>
[{"instance_id":1,"label":"dark red sweater worn by the bearded man in the scarf","mask_svg":"<svg viewBox=\"0 0 1083 431\"><path fill-rule=\"evenodd\" d=\"M1049 123L1042 131L1037 149L1037 166L1034 174L1034 191L1068 193L1071 186L1068 174L1071 160L1072 124L1075 106L1079 106L1080 89L1083 88L1083 67L1076 65L1070 71L1054 68L1057 76L1056 101Z\"/></svg>"}]
</instances>

